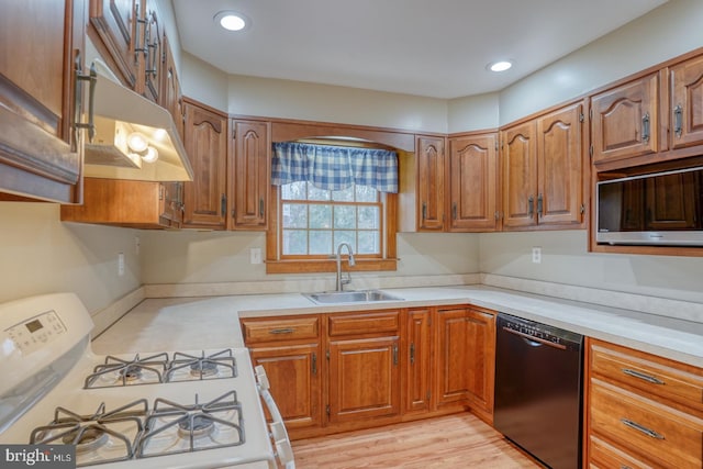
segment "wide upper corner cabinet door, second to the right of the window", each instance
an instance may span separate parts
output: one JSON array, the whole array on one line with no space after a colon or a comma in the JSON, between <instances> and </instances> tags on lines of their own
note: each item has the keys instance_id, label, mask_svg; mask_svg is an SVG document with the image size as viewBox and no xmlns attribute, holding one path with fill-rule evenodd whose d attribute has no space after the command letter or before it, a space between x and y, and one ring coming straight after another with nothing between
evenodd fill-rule
<instances>
[{"instance_id":1,"label":"wide upper corner cabinet door, second to the right of the window","mask_svg":"<svg viewBox=\"0 0 703 469\"><path fill-rule=\"evenodd\" d=\"M496 134L449 139L449 231L496 228Z\"/></svg>"}]
</instances>

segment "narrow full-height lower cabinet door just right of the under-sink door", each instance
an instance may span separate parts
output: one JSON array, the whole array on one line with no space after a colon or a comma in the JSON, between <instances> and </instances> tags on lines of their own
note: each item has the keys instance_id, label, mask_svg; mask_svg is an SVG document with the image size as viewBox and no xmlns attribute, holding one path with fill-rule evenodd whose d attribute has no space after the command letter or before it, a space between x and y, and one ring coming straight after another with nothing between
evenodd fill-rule
<instances>
[{"instance_id":1,"label":"narrow full-height lower cabinet door just right of the under-sink door","mask_svg":"<svg viewBox=\"0 0 703 469\"><path fill-rule=\"evenodd\" d=\"M408 365L405 367L405 412L431 409L431 311L408 311Z\"/></svg>"}]
</instances>

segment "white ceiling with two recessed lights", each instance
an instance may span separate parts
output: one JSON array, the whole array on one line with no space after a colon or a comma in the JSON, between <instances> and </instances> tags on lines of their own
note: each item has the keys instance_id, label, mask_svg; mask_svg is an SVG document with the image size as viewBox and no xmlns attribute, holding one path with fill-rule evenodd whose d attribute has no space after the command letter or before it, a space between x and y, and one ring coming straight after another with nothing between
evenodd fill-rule
<instances>
[{"instance_id":1,"label":"white ceiling with two recessed lights","mask_svg":"<svg viewBox=\"0 0 703 469\"><path fill-rule=\"evenodd\" d=\"M498 91L667 0L172 0L181 47L233 75L450 99ZM222 10L252 21L232 33ZM501 75L486 66L512 59Z\"/></svg>"}]
</instances>

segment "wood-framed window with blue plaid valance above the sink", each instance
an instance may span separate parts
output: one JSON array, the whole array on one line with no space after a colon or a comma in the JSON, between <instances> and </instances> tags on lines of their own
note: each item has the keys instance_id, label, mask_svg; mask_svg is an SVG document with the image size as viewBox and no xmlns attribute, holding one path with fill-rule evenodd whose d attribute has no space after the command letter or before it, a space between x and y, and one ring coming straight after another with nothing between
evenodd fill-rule
<instances>
[{"instance_id":1,"label":"wood-framed window with blue plaid valance above the sink","mask_svg":"<svg viewBox=\"0 0 703 469\"><path fill-rule=\"evenodd\" d=\"M354 250L353 270L395 270L398 194L388 185L397 188L397 155L353 148L347 156L344 148L312 146L274 145L267 273L334 271L341 243ZM366 166L359 166L364 158Z\"/></svg>"}]
</instances>

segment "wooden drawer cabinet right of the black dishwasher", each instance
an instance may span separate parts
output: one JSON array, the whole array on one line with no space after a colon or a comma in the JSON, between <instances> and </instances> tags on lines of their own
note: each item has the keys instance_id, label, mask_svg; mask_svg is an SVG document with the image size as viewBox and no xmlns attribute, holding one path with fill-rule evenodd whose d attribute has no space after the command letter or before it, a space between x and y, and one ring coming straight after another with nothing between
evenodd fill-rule
<instances>
[{"instance_id":1,"label":"wooden drawer cabinet right of the black dishwasher","mask_svg":"<svg viewBox=\"0 0 703 469\"><path fill-rule=\"evenodd\" d=\"M592 468L703 465L703 370L589 338L587 462Z\"/></svg>"}]
</instances>

